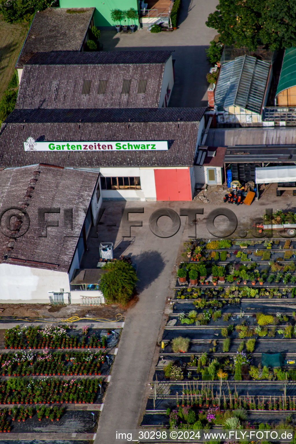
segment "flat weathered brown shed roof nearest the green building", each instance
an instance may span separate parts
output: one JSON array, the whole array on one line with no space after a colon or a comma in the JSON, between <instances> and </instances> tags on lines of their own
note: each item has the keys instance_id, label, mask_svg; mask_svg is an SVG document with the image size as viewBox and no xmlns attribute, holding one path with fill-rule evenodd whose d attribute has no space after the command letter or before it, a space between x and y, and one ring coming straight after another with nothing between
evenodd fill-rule
<instances>
[{"instance_id":1,"label":"flat weathered brown shed roof nearest the green building","mask_svg":"<svg viewBox=\"0 0 296 444\"><path fill-rule=\"evenodd\" d=\"M68 12L67 12L68 11ZM95 8L47 8L36 12L16 69L40 51L80 51Z\"/></svg>"}]
</instances>

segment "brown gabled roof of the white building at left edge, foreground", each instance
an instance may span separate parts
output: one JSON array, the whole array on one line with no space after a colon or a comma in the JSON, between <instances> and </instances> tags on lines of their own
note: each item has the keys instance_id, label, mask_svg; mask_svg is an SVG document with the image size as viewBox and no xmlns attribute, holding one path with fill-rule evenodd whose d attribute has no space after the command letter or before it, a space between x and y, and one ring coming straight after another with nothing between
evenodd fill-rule
<instances>
[{"instance_id":1,"label":"brown gabled roof of the white building at left edge, foreground","mask_svg":"<svg viewBox=\"0 0 296 444\"><path fill-rule=\"evenodd\" d=\"M86 217L83 209L89 206L97 179L96 173L42 165L1 170L0 212L28 203L30 226L11 242L0 230L0 261L68 272ZM29 186L31 197L25 198ZM59 220L59 227L47 228L47 237L41 237L45 232L38 222L39 208L60 208L59 214L45 216ZM63 223L64 210L69 208L73 230Z\"/></svg>"}]
</instances>

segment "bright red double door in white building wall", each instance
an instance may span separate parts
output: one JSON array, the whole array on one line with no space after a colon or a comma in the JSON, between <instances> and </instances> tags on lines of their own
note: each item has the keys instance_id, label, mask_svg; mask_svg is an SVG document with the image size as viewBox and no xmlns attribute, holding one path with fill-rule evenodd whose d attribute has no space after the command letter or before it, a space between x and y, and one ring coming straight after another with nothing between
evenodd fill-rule
<instances>
[{"instance_id":1,"label":"bright red double door in white building wall","mask_svg":"<svg viewBox=\"0 0 296 444\"><path fill-rule=\"evenodd\" d=\"M192 200L189 168L154 170L156 200Z\"/></svg>"}]
</instances>

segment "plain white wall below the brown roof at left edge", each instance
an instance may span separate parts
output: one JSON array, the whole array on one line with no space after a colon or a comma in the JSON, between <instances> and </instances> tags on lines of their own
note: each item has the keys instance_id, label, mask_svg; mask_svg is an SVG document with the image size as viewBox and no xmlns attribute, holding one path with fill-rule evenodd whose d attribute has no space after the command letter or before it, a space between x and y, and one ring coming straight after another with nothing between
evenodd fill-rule
<instances>
[{"instance_id":1,"label":"plain white wall below the brown roof at left edge","mask_svg":"<svg viewBox=\"0 0 296 444\"><path fill-rule=\"evenodd\" d=\"M0 282L0 301L11 303L46 304L49 291L70 292L67 273L15 264L0 264Z\"/></svg>"}]
</instances>

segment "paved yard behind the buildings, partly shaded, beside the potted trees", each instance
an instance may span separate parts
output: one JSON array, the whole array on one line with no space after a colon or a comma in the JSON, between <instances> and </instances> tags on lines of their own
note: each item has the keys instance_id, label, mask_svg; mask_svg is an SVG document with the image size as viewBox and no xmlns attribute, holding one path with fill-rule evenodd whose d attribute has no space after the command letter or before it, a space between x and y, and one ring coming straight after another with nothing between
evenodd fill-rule
<instances>
[{"instance_id":1,"label":"paved yard behind the buildings, partly shaded, beside the potted trees","mask_svg":"<svg viewBox=\"0 0 296 444\"><path fill-rule=\"evenodd\" d=\"M173 32L151 34L145 28L134 34L116 34L115 29L101 31L104 50L173 50L175 83L170 107L200 107L208 105L206 74L210 64L205 48L217 32L205 26L209 13L214 12L218 0L182 0L178 29Z\"/></svg>"}]
</instances>

